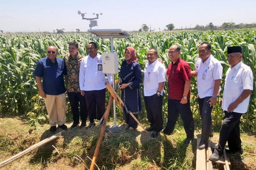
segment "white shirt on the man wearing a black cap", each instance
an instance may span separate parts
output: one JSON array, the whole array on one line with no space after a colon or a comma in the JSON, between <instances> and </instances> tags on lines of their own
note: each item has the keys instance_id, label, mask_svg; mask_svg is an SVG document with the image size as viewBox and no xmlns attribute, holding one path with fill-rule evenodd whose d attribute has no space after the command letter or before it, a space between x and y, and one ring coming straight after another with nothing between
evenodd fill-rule
<instances>
[{"instance_id":1,"label":"white shirt on the man wearing a black cap","mask_svg":"<svg viewBox=\"0 0 256 170\"><path fill-rule=\"evenodd\" d=\"M228 106L246 89L253 90L253 74L251 68L241 61L233 68L230 67L226 73L221 108L227 111ZM247 112L249 100L250 96L238 104L233 112Z\"/></svg>"}]
</instances>

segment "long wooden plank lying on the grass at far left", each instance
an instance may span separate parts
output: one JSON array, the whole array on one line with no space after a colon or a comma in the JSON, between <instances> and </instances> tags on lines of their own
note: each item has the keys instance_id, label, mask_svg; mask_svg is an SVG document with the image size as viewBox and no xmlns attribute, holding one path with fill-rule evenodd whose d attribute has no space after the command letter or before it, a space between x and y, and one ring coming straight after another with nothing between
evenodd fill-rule
<instances>
[{"instance_id":1,"label":"long wooden plank lying on the grass at far left","mask_svg":"<svg viewBox=\"0 0 256 170\"><path fill-rule=\"evenodd\" d=\"M22 151L22 152L20 152L20 153L18 153L18 154L16 154L16 155L14 155L14 156L12 156L11 158L6 159L6 160L0 162L0 168L6 166L7 164L13 162L14 160L16 160L16 159L18 159L18 158L20 158L20 157L23 157L24 155L26 155L26 154L32 152L33 150L39 148L40 146L42 146L42 145L44 145L44 144L46 144L46 143L48 143L48 142L50 142L50 141L52 141L52 140L58 138L59 135L60 135L62 132L64 132L64 130L62 130L61 132L56 133L56 134L52 135L51 137L48 137L48 138L46 138L46 139L44 139L44 140L42 140L42 141L40 141L40 142L38 142L38 143L36 143L36 144L30 146L30 147L27 148L26 150L24 150L24 151Z\"/></svg>"}]
</instances>

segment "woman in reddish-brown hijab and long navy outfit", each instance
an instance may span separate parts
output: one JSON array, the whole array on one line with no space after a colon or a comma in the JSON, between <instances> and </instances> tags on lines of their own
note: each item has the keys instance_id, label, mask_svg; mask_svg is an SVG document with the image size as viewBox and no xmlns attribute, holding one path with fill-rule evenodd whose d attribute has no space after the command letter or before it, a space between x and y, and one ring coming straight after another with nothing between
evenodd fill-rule
<instances>
[{"instance_id":1,"label":"woman in reddish-brown hijab and long navy outfit","mask_svg":"<svg viewBox=\"0 0 256 170\"><path fill-rule=\"evenodd\" d=\"M138 127L137 122L129 114L130 112L138 118L138 113L142 111L140 83L142 82L140 64L137 62L135 49L127 47L124 52L125 60L122 62L119 73L119 84L121 88L122 100L124 102L123 111L126 128L132 131Z\"/></svg>"}]
</instances>

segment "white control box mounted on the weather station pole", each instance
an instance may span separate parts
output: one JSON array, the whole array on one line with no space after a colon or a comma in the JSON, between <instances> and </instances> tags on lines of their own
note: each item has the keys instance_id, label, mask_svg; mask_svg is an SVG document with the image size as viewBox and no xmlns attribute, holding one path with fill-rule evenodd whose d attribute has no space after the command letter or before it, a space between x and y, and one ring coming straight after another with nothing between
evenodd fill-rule
<instances>
[{"instance_id":1,"label":"white control box mounted on the weather station pole","mask_svg":"<svg viewBox=\"0 0 256 170\"><path fill-rule=\"evenodd\" d=\"M118 55L117 53L102 53L102 72L105 74L118 73Z\"/></svg>"}]
</instances>

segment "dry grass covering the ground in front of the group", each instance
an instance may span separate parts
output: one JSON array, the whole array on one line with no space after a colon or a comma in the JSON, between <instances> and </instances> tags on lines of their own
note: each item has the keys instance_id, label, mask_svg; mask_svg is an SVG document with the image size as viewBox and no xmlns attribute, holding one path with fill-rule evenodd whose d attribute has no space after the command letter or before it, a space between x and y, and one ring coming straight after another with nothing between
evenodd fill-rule
<instances>
[{"instance_id":1,"label":"dry grass covering the ground in front of the group","mask_svg":"<svg viewBox=\"0 0 256 170\"><path fill-rule=\"evenodd\" d=\"M48 131L48 124L36 129L28 126L27 122L22 117L0 119L0 161L52 135ZM133 132L107 132L102 140L97 165L100 169L116 170L195 169L196 140L192 145L184 143L186 134L180 124L182 122L178 120L173 135L161 134L156 139L141 127ZM87 156L93 157L99 131L100 128L96 127L69 129L57 140L15 160L3 170L87 169L91 163ZM196 130L196 133L200 133L200 130ZM218 141L217 136L218 133L215 133L212 142ZM244 153L228 154L231 169L256 170L255 135L243 132L241 137ZM214 168L223 169L220 165L214 165Z\"/></svg>"}]
</instances>

